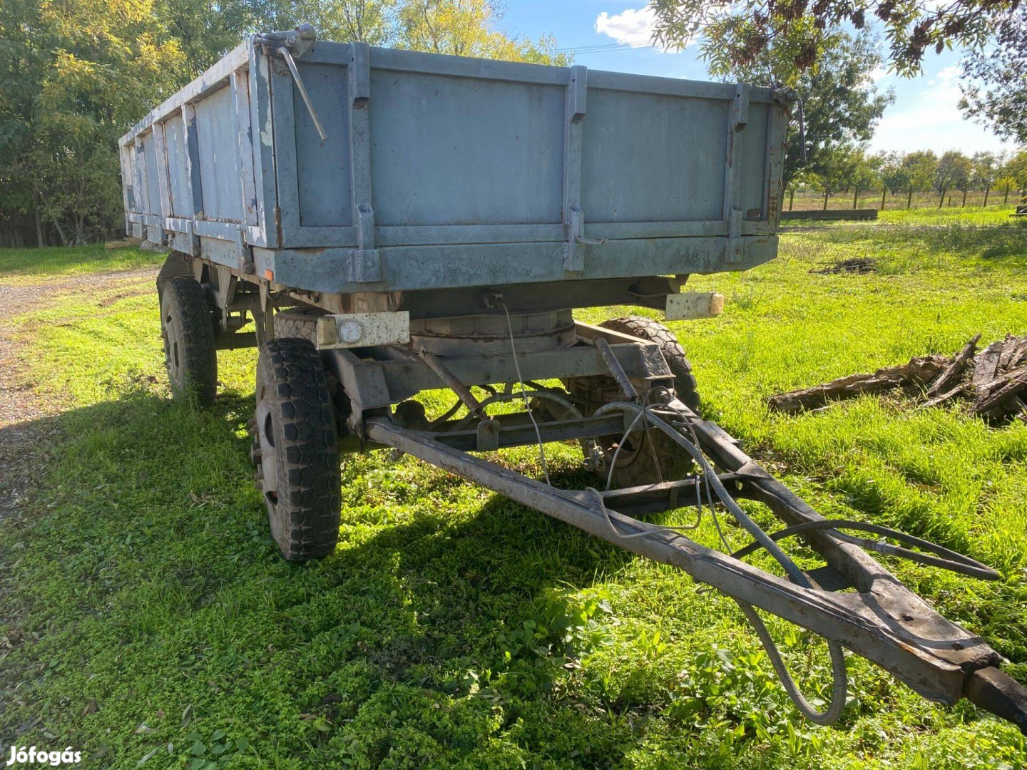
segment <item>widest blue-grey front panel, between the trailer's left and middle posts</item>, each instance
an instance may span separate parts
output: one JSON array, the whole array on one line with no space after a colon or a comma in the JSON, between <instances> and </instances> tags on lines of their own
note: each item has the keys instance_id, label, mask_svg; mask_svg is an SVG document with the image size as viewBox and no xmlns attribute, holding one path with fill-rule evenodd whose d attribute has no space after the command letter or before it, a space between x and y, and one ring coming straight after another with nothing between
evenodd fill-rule
<instances>
[{"instance_id":1,"label":"widest blue-grey front panel, between the trailer's left and middle posts","mask_svg":"<svg viewBox=\"0 0 1027 770\"><path fill-rule=\"evenodd\" d=\"M561 221L564 89L371 71L375 224Z\"/></svg>"}]
</instances>

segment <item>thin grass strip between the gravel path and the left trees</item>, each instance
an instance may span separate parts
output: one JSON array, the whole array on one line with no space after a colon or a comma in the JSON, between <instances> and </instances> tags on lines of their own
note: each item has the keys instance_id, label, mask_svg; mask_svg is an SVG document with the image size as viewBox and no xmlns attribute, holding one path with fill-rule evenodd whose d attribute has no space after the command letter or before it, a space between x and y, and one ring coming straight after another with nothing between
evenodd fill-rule
<instances>
[{"instance_id":1,"label":"thin grass strip between the gravel path and the left trees","mask_svg":"<svg viewBox=\"0 0 1027 770\"><path fill-rule=\"evenodd\" d=\"M129 270L160 265L163 255L139 248L112 248L103 243L74 248L0 248L0 281L34 283L41 278L85 275L103 270Z\"/></svg>"}]
</instances>

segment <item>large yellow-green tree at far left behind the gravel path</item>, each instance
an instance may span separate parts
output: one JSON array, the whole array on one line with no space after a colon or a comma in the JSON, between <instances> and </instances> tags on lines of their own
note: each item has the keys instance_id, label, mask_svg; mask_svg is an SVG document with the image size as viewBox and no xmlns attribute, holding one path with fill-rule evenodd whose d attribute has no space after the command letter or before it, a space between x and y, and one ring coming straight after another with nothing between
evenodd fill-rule
<instances>
[{"instance_id":1,"label":"large yellow-green tree at far left behind the gravel path","mask_svg":"<svg viewBox=\"0 0 1027 770\"><path fill-rule=\"evenodd\" d=\"M15 0L0 11L0 209L32 210L62 243L120 215L117 137L185 77L150 0Z\"/></svg>"}]
</instances>

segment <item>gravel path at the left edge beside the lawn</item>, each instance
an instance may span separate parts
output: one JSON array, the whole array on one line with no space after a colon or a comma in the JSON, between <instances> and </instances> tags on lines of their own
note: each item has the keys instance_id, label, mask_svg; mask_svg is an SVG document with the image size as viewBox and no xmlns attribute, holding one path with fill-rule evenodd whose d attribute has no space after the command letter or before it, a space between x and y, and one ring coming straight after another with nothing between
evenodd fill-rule
<instances>
[{"instance_id":1,"label":"gravel path at the left edge beside the lawn","mask_svg":"<svg viewBox=\"0 0 1027 770\"><path fill-rule=\"evenodd\" d=\"M55 416L64 407L52 398L39 398L27 378L24 356L31 350L15 338L17 317L69 295L107 294L120 286L126 292L118 299L155 294L152 282L142 287L139 282L156 275L157 268L148 267L63 276L40 283L0 284L0 522L16 514L36 474L45 467L49 448L60 433Z\"/></svg>"}]
</instances>

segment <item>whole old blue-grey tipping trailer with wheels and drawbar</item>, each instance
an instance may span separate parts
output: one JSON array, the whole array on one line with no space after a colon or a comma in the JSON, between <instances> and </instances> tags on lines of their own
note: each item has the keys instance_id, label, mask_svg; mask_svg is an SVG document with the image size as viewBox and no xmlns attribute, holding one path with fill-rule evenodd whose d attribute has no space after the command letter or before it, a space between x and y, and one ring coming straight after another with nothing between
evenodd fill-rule
<instances>
[{"instance_id":1,"label":"whole old blue-grey tipping trailer with wheels and drawbar","mask_svg":"<svg viewBox=\"0 0 1027 770\"><path fill-rule=\"evenodd\" d=\"M775 256L795 100L334 43L306 25L252 36L120 142L126 229L168 249L157 288L173 393L208 402L217 351L260 347L252 459L286 559L333 551L340 453L392 448L727 593L815 722L841 714L844 647L926 698L965 697L1027 731L1027 690L998 653L868 551L994 570L824 519L699 416L665 326L574 318L611 305L717 314L722 298L682 287ZM456 401L429 419L415 396L440 388ZM566 440L597 488L550 485L544 445ZM542 480L474 454L536 445ZM765 532L739 500L785 527ZM645 519L688 506L733 518L753 544L727 553ZM801 569L778 544L792 537L823 566ZM747 563L756 549L784 577ZM754 608L828 641L825 710Z\"/></svg>"}]
</instances>

